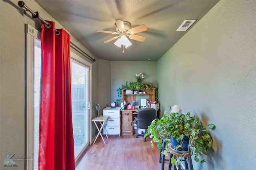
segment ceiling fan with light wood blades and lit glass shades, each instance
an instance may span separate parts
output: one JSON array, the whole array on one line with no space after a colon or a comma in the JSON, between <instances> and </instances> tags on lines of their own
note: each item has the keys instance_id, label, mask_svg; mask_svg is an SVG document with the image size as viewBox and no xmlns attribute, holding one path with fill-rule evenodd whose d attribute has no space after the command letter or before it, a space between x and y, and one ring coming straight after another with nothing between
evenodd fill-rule
<instances>
[{"instance_id":1,"label":"ceiling fan with light wood blades and lit glass shades","mask_svg":"<svg viewBox=\"0 0 256 170\"><path fill-rule=\"evenodd\" d=\"M144 40L146 39L146 37L144 36L138 36L135 35L136 33L139 32L143 32L147 30L147 27L143 24L134 28L131 28L131 24L127 21L122 21L122 20L116 20L116 32L112 32L112 31L104 31L104 30L98 30L97 32L102 32L102 33L108 33L108 34L117 34L118 36L115 36L113 38L110 38L109 40L105 41L104 43L108 43L111 42L113 40L121 40L121 39L127 39L127 37L129 37L132 40L136 40L139 42L144 42ZM128 39L127 39L128 40ZM127 41L125 40L125 41ZM118 41L117 41L118 42ZM116 43L117 43L116 42ZM128 40L129 42L129 40ZM116 44L115 43L115 44ZM126 48L130 45L132 45L132 43L121 43L123 45L123 47L125 46ZM121 44L116 44L117 46L121 47Z\"/></svg>"}]
</instances>

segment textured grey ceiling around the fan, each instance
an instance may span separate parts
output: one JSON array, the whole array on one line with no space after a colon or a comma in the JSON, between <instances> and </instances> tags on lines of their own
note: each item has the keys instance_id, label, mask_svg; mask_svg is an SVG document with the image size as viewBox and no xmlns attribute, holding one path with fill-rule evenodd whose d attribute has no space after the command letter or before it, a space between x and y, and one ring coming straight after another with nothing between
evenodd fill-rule
<instances>
[{"instance_id":1,"label":"textured grey ceiling around the fan","mask_svg":"<svg viewBox=\"0 0 256 170\"><path fill-rule=\"evenodd\" d=\"M36 2L99 59L109 61L157 61L188 32L218 0L36 0ZM43 18L47 20L47 18ZM145 24L144 42L130 40L122 49L114 41L115 19L131 28ZM184 20L196 19L186 32L176 30ZM72 41L72 40L71 40Z\"/></svg>"}]
</instances>

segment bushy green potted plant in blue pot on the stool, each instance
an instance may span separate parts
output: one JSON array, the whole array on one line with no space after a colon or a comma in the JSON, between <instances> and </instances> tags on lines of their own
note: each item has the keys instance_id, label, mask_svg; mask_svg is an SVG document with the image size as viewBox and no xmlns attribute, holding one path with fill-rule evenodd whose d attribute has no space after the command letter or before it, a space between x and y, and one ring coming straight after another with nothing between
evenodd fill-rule
<instances>
[{"instance_id":1,"label":"bushy green potted plant in blue pot on the stool","mask_svg":"<svg viewBox=\"0 0 256 170\"><path fill-rule=\"evenodd\" d=\"M170 107L171 109L171 107ZM215 129L215 125L209 124L208 129ZM178 105L174 105L172 110L168 113L165 112L161 119L152 121L151 125L148 127L147 136L150 134L150 137L153 138L151 141L152 147L154 147L154 142L157 143L158 149L162 149L163 142L166 142L166 148L161 153L168 156L168 143L171 142L170 138L176 139L180 144L172 143L172 148L188 150L191 154L194 155L194 160L199 162L199 155L207 155L207 150L214 151L212 148L212 136L210 135L209 130L206 129L200 119L196 116L190 116L190 112L186 115L181 113L181 109ZM182 146L184 138L188 137L188 146L184 148ZM172 164L178 166L180 164L180 158L172 157ZM205 160L201 160L201 163Z\"/></svg>"}]
</instances>

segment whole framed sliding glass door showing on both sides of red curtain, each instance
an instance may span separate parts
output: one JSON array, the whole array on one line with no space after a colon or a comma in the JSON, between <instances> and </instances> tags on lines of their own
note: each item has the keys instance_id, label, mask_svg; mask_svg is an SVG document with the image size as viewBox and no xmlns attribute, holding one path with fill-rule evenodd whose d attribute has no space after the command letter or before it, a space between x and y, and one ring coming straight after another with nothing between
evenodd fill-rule
<instances>
[{"instance_id":1,"label":"whole framed sliding glass door showing on both sides of red curtain","mask_svg":"<svg viewBox=\"0 0 256 170\"><path fill-rule=\"evenodd\" d=\"M31 31L32 30L32 31ZM37 170L38 127L41 77L41 34L27 25L27 77L26 77L26 170ZM92 64L78 55L70 53L72 79L72 121L75 160L89 146L90 100Z\"/></svg>"}]
</instances>

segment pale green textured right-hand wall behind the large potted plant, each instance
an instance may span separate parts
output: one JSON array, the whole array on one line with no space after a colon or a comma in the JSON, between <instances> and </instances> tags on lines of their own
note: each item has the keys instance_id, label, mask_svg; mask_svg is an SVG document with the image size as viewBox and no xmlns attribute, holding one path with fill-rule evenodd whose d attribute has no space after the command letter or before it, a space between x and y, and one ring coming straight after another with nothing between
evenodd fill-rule
<instances>
[{"instance_id":1,"label":"pale green textured right-hand wall behind the large potted plant","mask_svg":"<svg viewBox=\"0 0 256 170\"><path fill-rule=\"evenodd\" d=\"M161 110L214 123L214 153L196 170L254 169L256 1L221 0L157 62Z\"/></svg>"}]
</instances>

